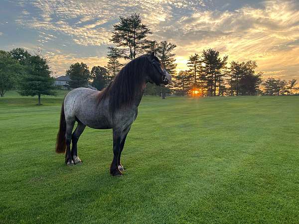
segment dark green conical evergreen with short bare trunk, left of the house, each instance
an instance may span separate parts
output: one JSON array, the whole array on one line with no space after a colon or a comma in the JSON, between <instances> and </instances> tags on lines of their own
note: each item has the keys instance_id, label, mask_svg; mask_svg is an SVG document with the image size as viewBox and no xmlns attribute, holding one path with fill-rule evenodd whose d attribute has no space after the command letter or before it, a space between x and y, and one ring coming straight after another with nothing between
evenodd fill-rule
<instances>
[{"instance_id":1,"label":"dark green conical evergreen with short bare trunk, left of the house","mask_svg":"<svg viewBox=\"0 0 299 224\"><path fill-rule=\"evenodd\" d=\"M49 62L38 51L26 58L24 63L25 74L18 78L16 89L21 96L38 96L37 105L41 105L41 95L55 95Z\"/></svg>"}]
</instances>

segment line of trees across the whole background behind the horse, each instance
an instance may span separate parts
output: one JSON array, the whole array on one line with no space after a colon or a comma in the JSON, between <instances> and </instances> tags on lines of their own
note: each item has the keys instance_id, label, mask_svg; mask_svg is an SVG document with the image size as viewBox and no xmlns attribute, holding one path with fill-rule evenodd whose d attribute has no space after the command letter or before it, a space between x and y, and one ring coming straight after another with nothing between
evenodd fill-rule
<instances>
[{"instance_id":1,"label":"line of trees across the whole background behind the horse","mask_svg":"<svg viewBox=\"0 0 299 224\"><path fill-rule=\"evenodd\" d=\"M147 84L145 95L159 95L165 98L171 93L178 96L239 96L239 95L290 95L299 88L297 80L290 81L268 78L262 79L262 73L256 72L255 61L228 64L228 56L220 57L214 49L204 49L189 56L187 70L176 73L176 45L167 40L149 40L152 34L149 27L142 23L140 14L132 13L128 17L120 16L119 23L113 25L110 41L115 46L108 47L106 66L88 66L81 63L70 65L66 71L71 88L84 87L90 83L98 90L105 88L130 60L156 52L167 72L174 78L172 86ZM121 63L122 61L122 63ZM0 96L15 87L22 96L55 94L54 78L49 61L41 51L30 53L22 48L9 52L0 51Z\"/></svg>"}]
</instances>

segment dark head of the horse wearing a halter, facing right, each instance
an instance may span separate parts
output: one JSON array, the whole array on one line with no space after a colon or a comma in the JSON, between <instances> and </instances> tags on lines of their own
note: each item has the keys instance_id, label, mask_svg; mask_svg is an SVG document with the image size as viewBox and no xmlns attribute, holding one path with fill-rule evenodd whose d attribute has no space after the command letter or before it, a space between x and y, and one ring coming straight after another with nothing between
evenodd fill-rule
<instances>
[{"instance_id":1,"label":"dark head of the horse wearing a halter, facing right","mask_svg":"<svg viewBox=\"0 0 299 224\"><path fill-rule=\"evenodd\" d=\"M155 52L147 55L147 57L152 65L151 71L148 72L147 82L154 83L157 86L171 83L171 76L165 70L160 60L155 56Z\"/></svg>"}]
</instances>

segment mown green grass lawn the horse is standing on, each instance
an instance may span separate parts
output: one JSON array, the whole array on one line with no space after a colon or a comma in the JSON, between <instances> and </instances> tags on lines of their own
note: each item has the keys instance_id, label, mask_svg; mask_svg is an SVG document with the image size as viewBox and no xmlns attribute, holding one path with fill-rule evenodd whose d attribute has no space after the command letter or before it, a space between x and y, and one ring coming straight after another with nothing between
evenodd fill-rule
<instances>
[{"instance_id":1,"label":"mown green grass lawn the horse is standing on","mask_svg":"<svg viewBox=\"0 0 299 224\"><path fill-rule=\"evenodd\" d=\"M144 97L116 178L111 130L55 154L64 94L0 99L0 223L299 222L299 97Z\"/></svg>"}]
</instances>

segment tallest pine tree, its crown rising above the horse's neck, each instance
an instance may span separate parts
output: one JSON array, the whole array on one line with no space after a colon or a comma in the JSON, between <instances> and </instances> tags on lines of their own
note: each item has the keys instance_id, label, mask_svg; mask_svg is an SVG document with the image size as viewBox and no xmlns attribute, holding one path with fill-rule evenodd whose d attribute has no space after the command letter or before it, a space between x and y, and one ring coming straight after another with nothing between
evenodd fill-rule
<instances>
[{"instance_id":1,"label":"tallest pine tree, its crown rising above the horse's neck","mask_svg":"<svg viewBox=\"0 0 299 224\"><path fill-rule=\"evenodd\" d=\"M128 17L120 16L120 22L113 25L111 41L116 47L109 47L118 53L119 57L133 60L143 54L150 46L146 37L152 32L142 23L139 13L132 13Z\"/></svg>"}]
</instances>

